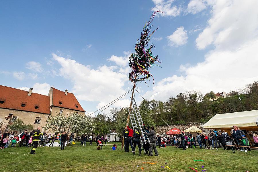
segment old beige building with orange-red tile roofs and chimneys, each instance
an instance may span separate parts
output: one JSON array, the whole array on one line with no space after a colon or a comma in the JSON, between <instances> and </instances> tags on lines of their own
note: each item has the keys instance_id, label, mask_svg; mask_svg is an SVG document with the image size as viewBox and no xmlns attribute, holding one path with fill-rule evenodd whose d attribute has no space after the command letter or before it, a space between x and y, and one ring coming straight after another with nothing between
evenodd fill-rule
<instances>
[{"instance_id":1,"label":"old beige building with orange-red tile roofs and chimneys","mask_svg":"<svg viewBox=\"0 0 258 172\"><path fill-rule=\"evenodd\" d=\"M0 85L0 131L5 132L7 126L17 119L25 124L46 126L50 115L85 114L73 93L60 91L51 87L48 95L23 91ZM19 131L18 131L19 132Z\"/></svg>"}]
</instances>

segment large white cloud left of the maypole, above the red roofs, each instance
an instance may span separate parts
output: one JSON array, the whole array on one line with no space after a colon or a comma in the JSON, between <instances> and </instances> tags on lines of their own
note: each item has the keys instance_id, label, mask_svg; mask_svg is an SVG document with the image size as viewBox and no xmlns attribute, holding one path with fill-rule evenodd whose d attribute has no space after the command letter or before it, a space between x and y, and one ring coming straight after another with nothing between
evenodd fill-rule
<instances>
[{"instance_id":1,"label":"large white cloud left of the maypole, above the red roofs","mask_svg":"<svg viewBox=\"0 0 258 172\"><path fill-rule=\"evenodd\" d=\"M119 71L116 72L116 67L104 65L91 69L90 66L75 60L52 55L53 59L61 65L59 75L73 83L73 93L79 100L98 101L97 108L99 108L127 91L123 87L128 83L128 76ZM125 105L125 98L114 103L114 106Z\"/></svg>"}]
</instances>

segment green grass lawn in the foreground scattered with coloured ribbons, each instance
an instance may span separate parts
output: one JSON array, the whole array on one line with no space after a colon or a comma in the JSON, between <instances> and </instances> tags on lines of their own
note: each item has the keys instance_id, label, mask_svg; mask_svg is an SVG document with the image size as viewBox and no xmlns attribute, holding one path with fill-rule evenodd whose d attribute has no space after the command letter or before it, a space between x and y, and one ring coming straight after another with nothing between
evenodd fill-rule
<instances>
[{"instance_id":1,"label":"green grass lawn in the foreground scattered with coloured ribbons","mask_svg":"<svg viewBox=\"0 0 258 172\"><path fill-rule=\"evenodd\" d=\"M89 142L87 142L89 144ZM121 149L119 143L118 149ZM31 148L15 147L0 150L0 171L177 171L194 172L189 167L197 168L198 172L250 172L258 171L258 151L252 153L231 150L182 150L168 146L158 148L159 156L138 156L125 153L122 150L112 150L112 145L103 146L97 150L94 145L80 146L77 142L73 146L65 147L38 147L36 155L27 153ZM136 148L138 150L138 148ZM18 153L18 154L17 154ZM144 153L144 152L143 152ZM193 161L202 159L204 162ZM143 164L143 162L156 162L156 164ZM165 164L167 162L167 164ZM139 165L140 167L137 167ZM202 165L204 168L202 169ZM161 166L168 166L170 170ZM143 167L143 170L141 169Z\"/></svg>"}]
</instances>

